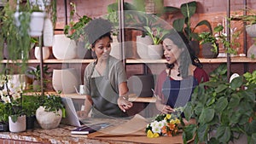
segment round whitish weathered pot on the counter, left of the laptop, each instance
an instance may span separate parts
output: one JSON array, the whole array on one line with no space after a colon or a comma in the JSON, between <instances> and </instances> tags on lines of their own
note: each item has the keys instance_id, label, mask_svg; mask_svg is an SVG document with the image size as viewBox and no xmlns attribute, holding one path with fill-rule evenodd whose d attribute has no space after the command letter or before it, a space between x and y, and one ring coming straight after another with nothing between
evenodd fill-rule
<instances>
[{"instance_id":1,"label":"round whitish weathered pot on the counter, left of the laptop","mask_svg":"<svg viewBox=\"0 0 256 144\"><path fill-rule=\"evenodd\" d=\"M36 118L38 124L43 129L55 129L61 123L62 111L61 109L58 112L45 112L44 107L38 107L36 111Z\"/></svg>"}]
</instances>

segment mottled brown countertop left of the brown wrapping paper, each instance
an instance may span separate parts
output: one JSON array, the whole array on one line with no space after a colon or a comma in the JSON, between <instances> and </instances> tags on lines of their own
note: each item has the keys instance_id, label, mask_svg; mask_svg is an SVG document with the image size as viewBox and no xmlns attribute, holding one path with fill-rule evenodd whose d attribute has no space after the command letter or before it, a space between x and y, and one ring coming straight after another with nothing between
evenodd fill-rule
<instances>
[{"instance_id":1,"label":"mottled brown countertop left of the brown wrapping paper","mask_svg":"<svg viewBox=\"0 0 256 144\"><path fill-rule=\"evenodd\" d=\"M73 144L73 143L134 143L127 141L111 141L111 140L97 140L97 139L89 139L86 135L71 135L70 130L73 130L75 127L67 126L61 124L59 128L52 130L43 130L43 129L35 129L35 130L26 130L26 132L20 133L10 133L10 132L0 132L0 143L19 143L17 141L23 141L24 143L35 142L35 143L55 143L55 144ZM14 142L15 141L15 142Z\"/></svg>"}]
</instances>

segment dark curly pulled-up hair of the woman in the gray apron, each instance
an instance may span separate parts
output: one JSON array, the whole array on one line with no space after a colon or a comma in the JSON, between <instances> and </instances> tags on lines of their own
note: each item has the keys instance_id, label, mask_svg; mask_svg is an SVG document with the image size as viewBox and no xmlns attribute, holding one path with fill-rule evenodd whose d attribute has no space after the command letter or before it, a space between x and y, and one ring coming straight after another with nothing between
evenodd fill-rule
<instances>
[{"instance_id":1,"label":"dark curly pulled-up hair of the woman in the gray apron","mask_svg":"<svg viewBox=\"0 0 256 144\"><path fill-rule=\"evenodd\" d=\"M102 39L102 37L109 37L112 40L112 30L113 24L109 20L102 18L90 20L90 22L84 27L87 40L91 44L92 48L94 48L96 41Z\"/></svg>"}]
</instances>

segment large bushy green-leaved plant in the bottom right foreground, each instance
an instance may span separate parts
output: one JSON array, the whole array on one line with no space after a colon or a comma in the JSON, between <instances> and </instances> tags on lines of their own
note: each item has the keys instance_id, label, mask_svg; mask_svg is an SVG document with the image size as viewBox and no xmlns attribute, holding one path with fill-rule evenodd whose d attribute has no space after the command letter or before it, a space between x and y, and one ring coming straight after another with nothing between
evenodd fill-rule
<instances>
[{"instance_id":1,"label":"large bushy green-leaved plant in the bottom right foreground","mask_svg":"<svg viewBox=\"0 0 256 144\"><path fill-rule=\"evenodd\" d=\"M195 118L196 123L183 129L184 143L193 136L195 143L256 142L256 85L247 84L243 76L227 83L220 75L215 73L215 78L195 88L184 115L187 120Z\"/></svg>"}]
</instances>

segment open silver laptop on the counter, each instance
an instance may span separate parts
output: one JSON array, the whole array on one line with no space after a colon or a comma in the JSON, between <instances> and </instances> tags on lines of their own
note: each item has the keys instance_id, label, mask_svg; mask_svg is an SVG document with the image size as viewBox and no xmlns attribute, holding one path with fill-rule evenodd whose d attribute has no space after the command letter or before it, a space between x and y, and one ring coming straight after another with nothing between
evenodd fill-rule
<instances>
[{"instance_id":1,"label":"open silver laptop on the counter","mask_svg":"<svg viewBox=\"0 0 256 144\"><path fill-rule=\"evenodd\" d=\"M104 122L102 119L85 118L79 119L77 111L80 111L80 106L84 104L83 99L73 99L70 97L61 97L61 101L66 109L66 117L61 119L61 124L68 124L76 127L82 127L85 125L100 125L101 128L108 127L108 121ZM75 104L75 105L74 105Z\"/></svg>"}]
</instances>

